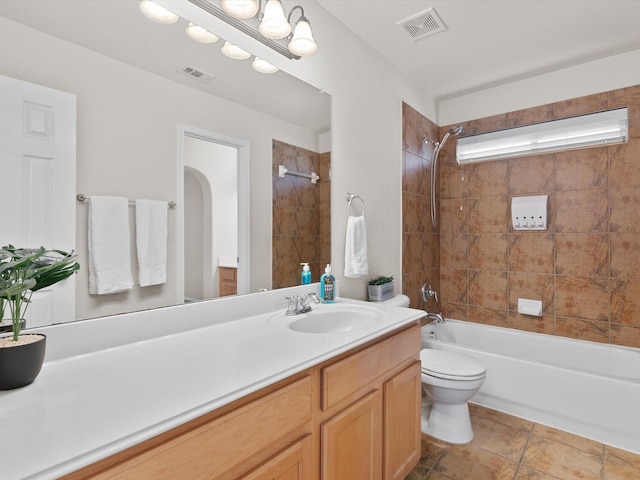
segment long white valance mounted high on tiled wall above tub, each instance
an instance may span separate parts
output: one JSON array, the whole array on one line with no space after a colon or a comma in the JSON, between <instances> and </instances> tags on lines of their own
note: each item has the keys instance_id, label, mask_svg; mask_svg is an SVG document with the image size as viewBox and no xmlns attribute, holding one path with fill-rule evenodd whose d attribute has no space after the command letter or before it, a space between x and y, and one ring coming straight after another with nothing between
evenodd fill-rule
<instances>
[{"instance_id":1,"label":"long white valance mounted high on tiled wall above tub","mask_svg":"<svg viewBox=\"0 0 640 480\"><path fill-rule=\"evenodd\" d=\"M627 107L457 139L459 164L627 141Z\"/></svg>"}]
</instances>

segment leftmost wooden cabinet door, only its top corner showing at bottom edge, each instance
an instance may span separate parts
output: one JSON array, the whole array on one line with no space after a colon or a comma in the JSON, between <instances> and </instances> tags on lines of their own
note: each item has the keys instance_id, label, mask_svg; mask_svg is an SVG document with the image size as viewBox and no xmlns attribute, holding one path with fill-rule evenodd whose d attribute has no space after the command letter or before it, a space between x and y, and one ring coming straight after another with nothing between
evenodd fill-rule
<instances>
[{"instance_id":1,"label":"leftmost wooden cabinet door, only its top corner showing at bottom edge","mask_svg":"<svg viewBox=\"0 0 640 480\"><path fill-rule=\"evenodd\" d=\"M242 480L305 480L311 476L311 435L267 460Z\"/></svg>"}]
</instances>

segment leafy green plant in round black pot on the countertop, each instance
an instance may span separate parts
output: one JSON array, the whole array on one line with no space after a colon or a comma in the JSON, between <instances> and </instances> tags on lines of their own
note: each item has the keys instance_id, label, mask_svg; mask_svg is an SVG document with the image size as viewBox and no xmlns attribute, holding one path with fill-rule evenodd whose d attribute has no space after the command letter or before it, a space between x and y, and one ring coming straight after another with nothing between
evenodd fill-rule
<instances>
[{"instance_id":1,"label":"leafy green plant in round black pot on the countertop","mask_svg":"<svg viewBox=\"0 0 640 480\"><path fill-rule=\"evenodd\" d=\"M76 255L44 247L0 249L0 319L8 310L12 335L0 338L0 390L30 384L44 362L46 336L20 335L31 295L71 276L80 268Z\"/></svg>"}]
</instances>

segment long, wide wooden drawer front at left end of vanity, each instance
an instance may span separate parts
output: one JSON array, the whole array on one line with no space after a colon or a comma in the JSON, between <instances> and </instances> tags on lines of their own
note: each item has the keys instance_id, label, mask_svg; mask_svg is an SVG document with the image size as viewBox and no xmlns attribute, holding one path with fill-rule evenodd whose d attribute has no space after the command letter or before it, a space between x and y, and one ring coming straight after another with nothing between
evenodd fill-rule
<instances>
[{"instance_id":1,"label":"long, wide wooden drawer front at left end of vanity","mask_svg":"<svg viewBox=\"0 0 640 480\"><path fill-rule=\"evenodd\" d=\"M307 376L91 478L227 478L241 464L247 465L246 472L266 460L290 443L293 434L299 438L301 430L309 433L311 418Z\"/></svg>"}]
</instances>

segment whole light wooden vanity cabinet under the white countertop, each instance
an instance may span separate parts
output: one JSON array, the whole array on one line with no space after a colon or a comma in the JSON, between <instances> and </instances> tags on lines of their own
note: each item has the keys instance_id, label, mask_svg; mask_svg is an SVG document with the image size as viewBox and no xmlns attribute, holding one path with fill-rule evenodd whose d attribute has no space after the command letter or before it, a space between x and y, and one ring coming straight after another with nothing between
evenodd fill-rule
<instances>
[{"instance_id":1,"label":"whole light wooden vanity cabinet under the white countertop","mask_svg":"<svg viewBox=\"0 0 640 480\"><path fill-rule=\"evenodd\" d=\"M411 324L64 477L391 480L420 458Z\"/></svg>"}]
</instances>

